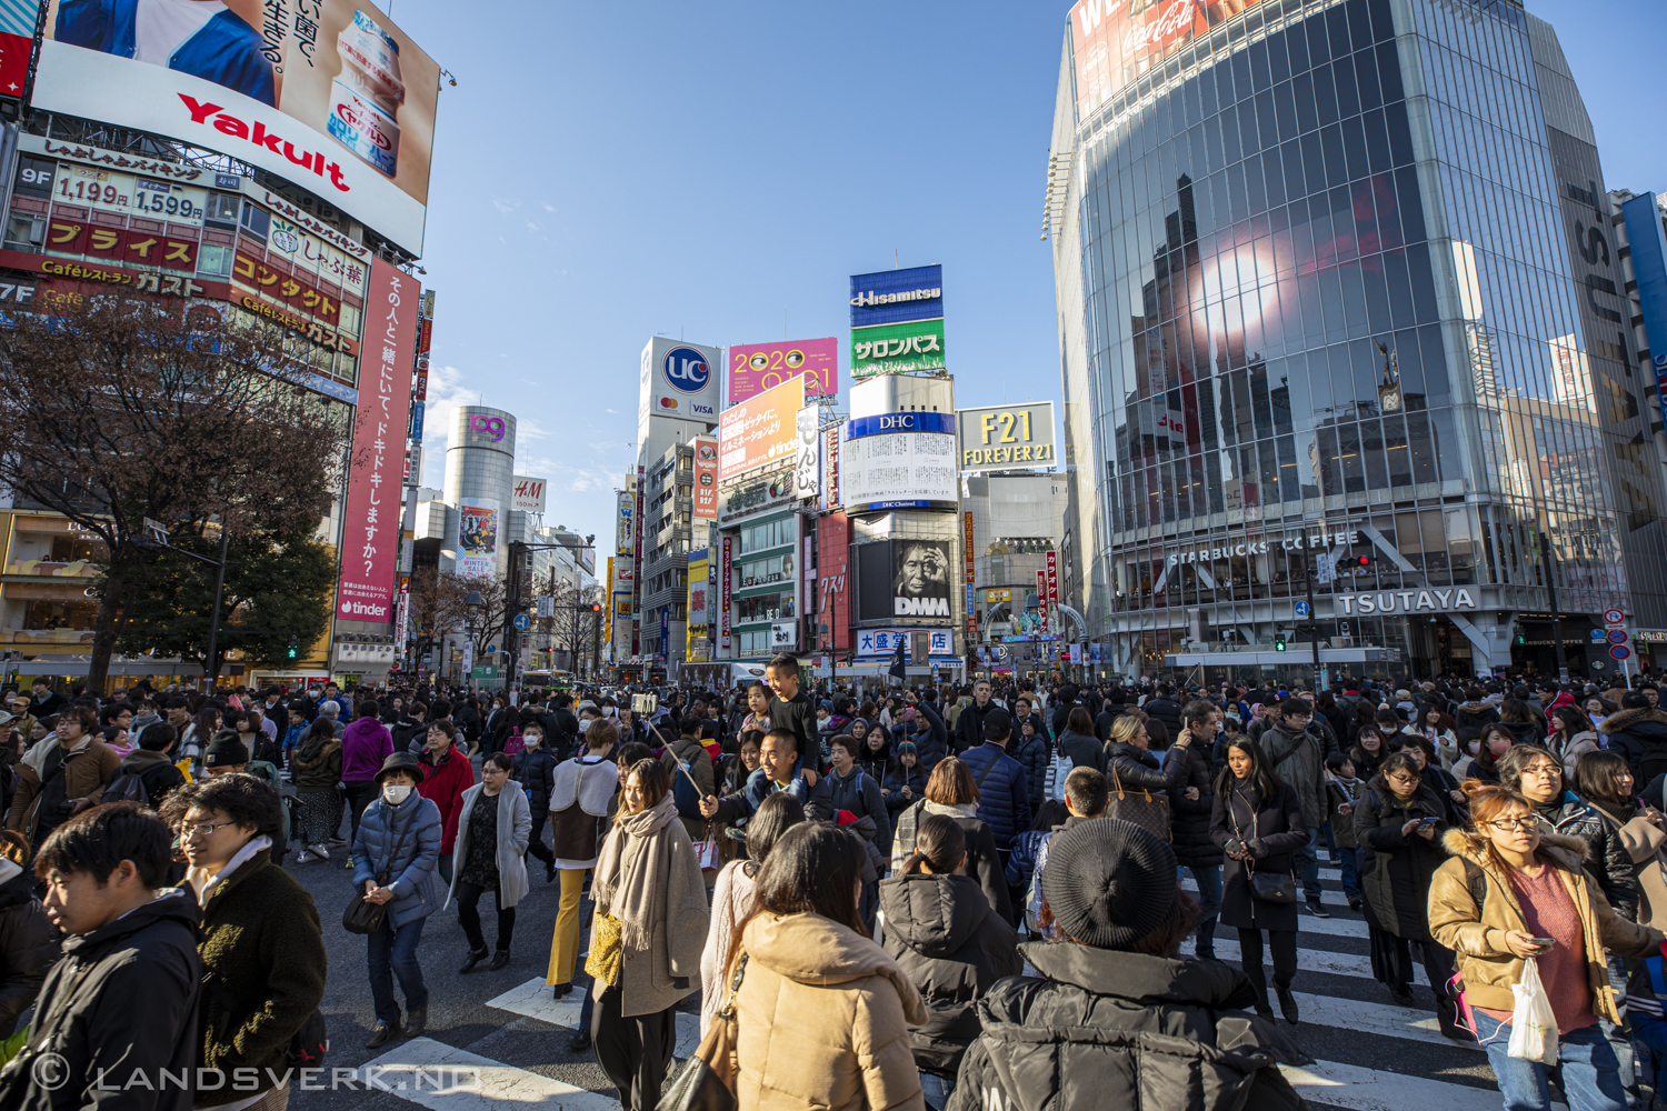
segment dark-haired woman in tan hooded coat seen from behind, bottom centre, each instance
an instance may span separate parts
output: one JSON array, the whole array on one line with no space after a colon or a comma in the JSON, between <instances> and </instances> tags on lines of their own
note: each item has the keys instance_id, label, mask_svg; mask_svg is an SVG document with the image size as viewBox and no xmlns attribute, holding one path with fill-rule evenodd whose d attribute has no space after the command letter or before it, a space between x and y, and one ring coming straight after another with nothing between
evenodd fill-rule
<instances>
[{"instance_id":1,"label":"dark-haired woman in tan hooded coat seen from behind, bottom centre","mask_svg":"<svg viewBox=\"0 0 1667 1111\"><path fill-rule=\"evenodd\" d=\"M805 823L758 869L737 958L740 1111L925 1109L909 1028L927 1009L857 916L864 856L855 834Z\"/></svg>"}]
</instances>

